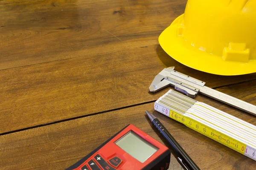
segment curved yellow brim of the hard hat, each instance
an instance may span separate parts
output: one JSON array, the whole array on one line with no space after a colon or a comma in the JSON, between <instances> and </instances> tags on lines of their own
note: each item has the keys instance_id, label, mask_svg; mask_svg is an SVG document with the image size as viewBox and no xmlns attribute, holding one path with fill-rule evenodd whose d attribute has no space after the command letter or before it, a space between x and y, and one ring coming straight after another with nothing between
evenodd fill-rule
<instances>
[{"instance_id":1,"label":"curved yellow brim of the hard hat","mask_svg":"<svg viewBox=\"0 0 256 170\"><path fill-rule=\"evenodd\" d=\"M183 65L211 74L233 76L256 72L256 60L250 60L247 63L225 61L220 56L195 48L183 37L177 36L178 23L182 18L183 14L177 17L171 26L159 36L159 43L169 56Z\"/></svg>"}]
</instances>

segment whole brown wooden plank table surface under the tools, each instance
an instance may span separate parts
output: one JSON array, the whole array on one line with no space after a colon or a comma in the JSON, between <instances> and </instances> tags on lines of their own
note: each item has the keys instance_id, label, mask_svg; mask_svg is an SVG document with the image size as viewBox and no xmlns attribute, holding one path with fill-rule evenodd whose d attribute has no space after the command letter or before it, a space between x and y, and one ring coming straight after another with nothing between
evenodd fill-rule
<instances>
[{"instance_id":1,"label":"whole brown wooden plank table surface under the tools","mask_svg":"<svg viewBox=\"0 0 256 170\"><path fill-rule=\"evenodd\" d=\"M256 105L256 74L218 76L169 57L158 36L186 0L0 0L0 169L63 170L127 124L159 142L145 110L170 66ZM256 125L256 118L196 100ZM154 111L202 170L254 170L256 162ZM172 156L170 169L181 169Z\"/></svg>"}]
</instances>

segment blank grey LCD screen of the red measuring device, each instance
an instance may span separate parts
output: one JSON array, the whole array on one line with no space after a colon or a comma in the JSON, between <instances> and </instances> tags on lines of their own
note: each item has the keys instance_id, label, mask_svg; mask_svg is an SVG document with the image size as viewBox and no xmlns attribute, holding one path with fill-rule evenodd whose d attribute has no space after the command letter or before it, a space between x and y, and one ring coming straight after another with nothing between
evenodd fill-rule
<instances>
[{"instance_id":1,"label":"blank grey LCD screen of the red measuring device","mask_svg":"<svg viewBox=\"0 0 256 170\"><path fill-rule=\"evenodd\" d=\"M132 130L126 133L125 136L122 136L115 144L141 163L145 162L158 150L157 147L144 140Z\"/></svg>"}]
</instances>

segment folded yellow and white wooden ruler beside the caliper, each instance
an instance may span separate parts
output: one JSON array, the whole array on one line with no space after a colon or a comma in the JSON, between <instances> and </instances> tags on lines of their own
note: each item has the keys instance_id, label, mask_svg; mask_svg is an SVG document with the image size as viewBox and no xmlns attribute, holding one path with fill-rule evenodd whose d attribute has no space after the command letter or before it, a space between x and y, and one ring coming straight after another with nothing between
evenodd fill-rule
<instances>
[{"instance_id":1,"label":"folded yellow and white wooden ruler beside the caliper","mask_svg":"<svg viewBox=\"0 0 256 170\"><path fill-rule=\"evenodd\" d=\"M154 109L256 160L256 126L173 90L160 97Z\"/></svg>"}]
</instances>

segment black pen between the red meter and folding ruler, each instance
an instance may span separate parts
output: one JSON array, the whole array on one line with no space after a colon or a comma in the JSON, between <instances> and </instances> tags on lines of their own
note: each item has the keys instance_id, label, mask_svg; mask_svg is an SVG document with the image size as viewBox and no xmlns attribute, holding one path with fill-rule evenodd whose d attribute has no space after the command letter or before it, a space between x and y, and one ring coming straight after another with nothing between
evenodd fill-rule
<instances>
[{"instance_id":1,"label":"black pen between the red meter and folding ruler","mask_svg":"<svg viewBox=\"0 0 256 170\"><path fill-rule=\"evenodd\" d=\"M183 148L178 144L178 142L172 137L172 135L168 132L168 130L163 126L163 124L149 111L146 111L149 119L153 123L157 130L163 135L163 137L168 141L168 143L172 146L172 150L174 151L174 155L180 165L184 170L200 170L199 167L195 164L195 162L188 156L188 154L183 150Z\"/></svg>"}]
</instances>

